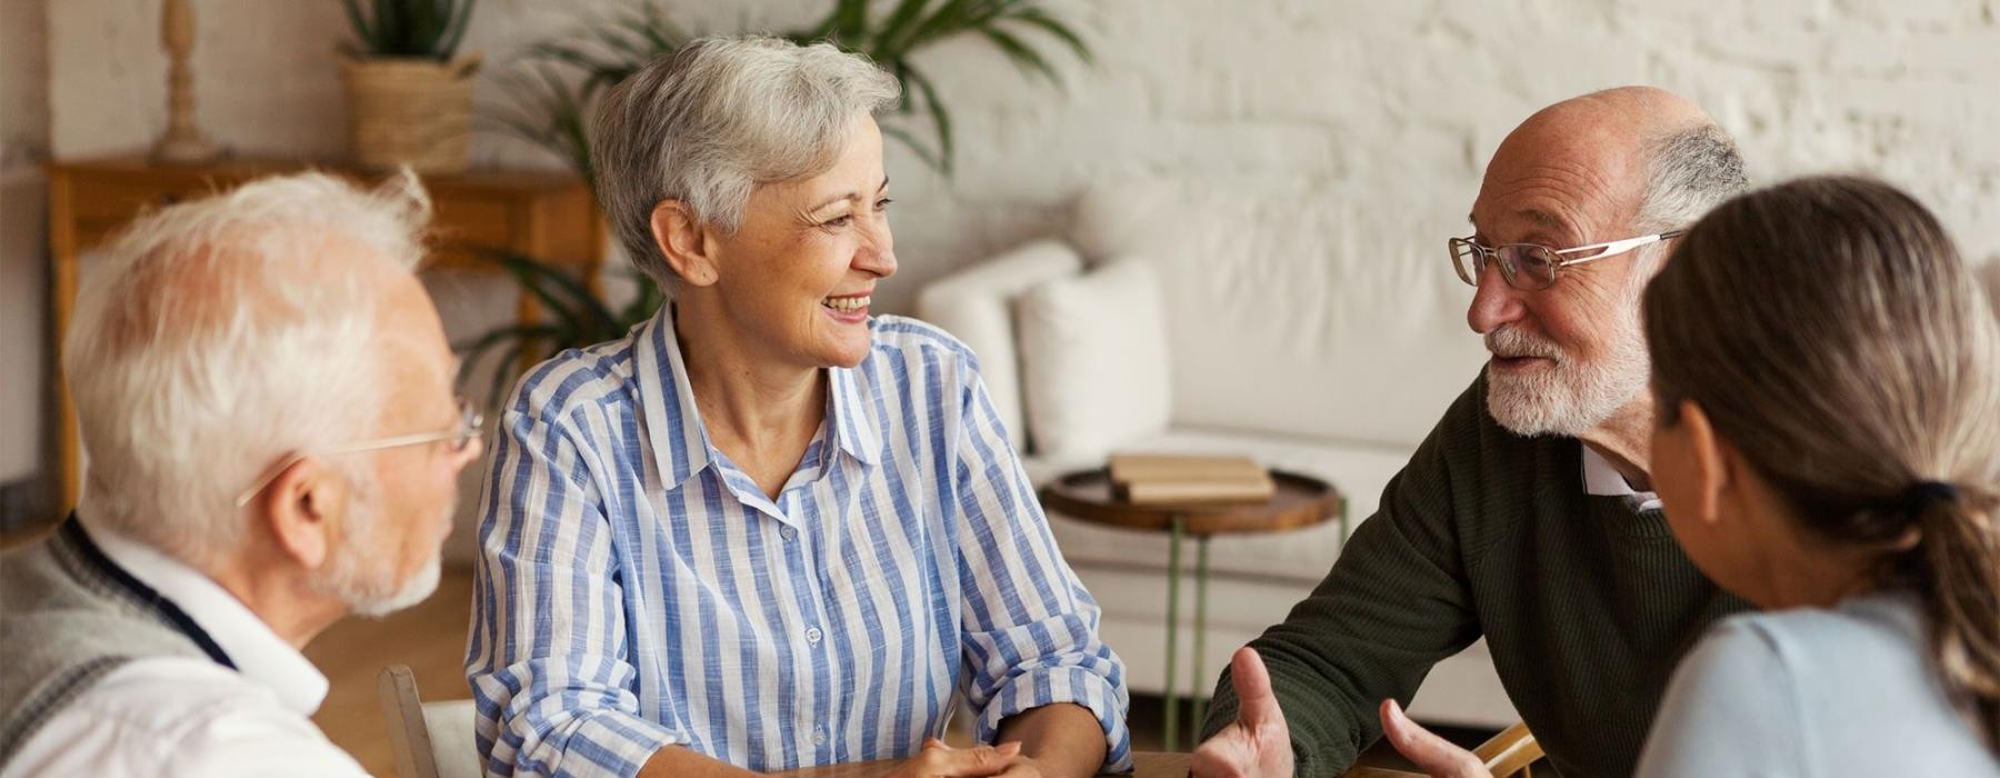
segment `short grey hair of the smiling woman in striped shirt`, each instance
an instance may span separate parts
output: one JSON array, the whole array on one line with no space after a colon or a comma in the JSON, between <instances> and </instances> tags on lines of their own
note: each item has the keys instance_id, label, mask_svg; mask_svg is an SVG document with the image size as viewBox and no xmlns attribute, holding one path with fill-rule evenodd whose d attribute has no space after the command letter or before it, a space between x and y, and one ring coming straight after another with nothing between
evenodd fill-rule
<instances>
[{"instance_id":1,"label":"short grey hair of the smiling woman in striped shirt","mask_svg":"<svg viewBox=\"0 0 2000 778\"><path fill-rule=\"evenodd\" d=\"M680 200L734 234L758 184L824 172L854 118L900 96L896 78L832 44L688 42L604 98L592 130L598 200L632 264L672 286L652 240L654 206Z\"/></svg>"}]
</instances>

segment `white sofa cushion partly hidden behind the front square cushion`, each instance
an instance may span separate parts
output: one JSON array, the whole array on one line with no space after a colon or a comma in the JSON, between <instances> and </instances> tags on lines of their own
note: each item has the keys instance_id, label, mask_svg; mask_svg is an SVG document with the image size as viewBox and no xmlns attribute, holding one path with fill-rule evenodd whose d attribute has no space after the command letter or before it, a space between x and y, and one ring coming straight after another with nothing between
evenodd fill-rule
<instances>
[{"instance_id":1,"label":"white sofa cushion partly hidden behind the front square cushion","mask_svg":"<svg viewBox=\"0 0 2000 778\"><path fill-rule=\"evenodd\" d=\"M1084 260L1068 244L1040 240L936 280L916 294L916 316L944 328L980 358L980 378L1014 450L1028 450L1028 422L1020 408L1020 352L1014 350L1014 300L1036 284L1082 270Z\"/></svg>"}]
</instances>

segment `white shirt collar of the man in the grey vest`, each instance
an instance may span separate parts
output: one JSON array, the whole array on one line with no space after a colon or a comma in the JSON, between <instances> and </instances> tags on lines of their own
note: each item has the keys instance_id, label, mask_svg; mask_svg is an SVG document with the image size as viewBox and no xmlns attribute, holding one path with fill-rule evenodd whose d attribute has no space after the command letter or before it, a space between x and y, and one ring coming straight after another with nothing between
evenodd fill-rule
<instances>
[{"instance_id":1,"label":"white shirt collar of the man in the grey vest","mask_svg":"<svg viewBox=\"0 0 2000 778\"><path fill-rule=\"evenodd\" d=\"M96 526L84 516L76 520L104 556L172 600L208 632L244 678L276 692L278 702L300 716L320 710L326 676L222 584L158 548Z\"/></svg>"}]
</instances>

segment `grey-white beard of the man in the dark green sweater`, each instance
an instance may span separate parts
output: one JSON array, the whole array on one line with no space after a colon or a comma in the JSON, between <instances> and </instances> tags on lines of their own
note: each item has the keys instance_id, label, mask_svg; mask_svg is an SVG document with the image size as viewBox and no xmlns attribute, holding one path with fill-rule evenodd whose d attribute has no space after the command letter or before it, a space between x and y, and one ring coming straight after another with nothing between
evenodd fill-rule
<instances>
[{"instance_id":1,"label":"grey-white beard of the man in the dark green sweater","mask_svg":"<svg viewBox=\"0 0 2000 778\"><path fill-rule=\"evenodd\" d=\"M1636 324L1636 322L1634 322ZM1576 438L1612 418L1646 392L1652 364L1636 328L1602 364L1578 364L1554 342L1514 328L1486 334L1486 350L1506 356L1542 356L1550 370L1530 376L1486 370L1486 412L1520 436Z\"/></svg>"}]
</instances>

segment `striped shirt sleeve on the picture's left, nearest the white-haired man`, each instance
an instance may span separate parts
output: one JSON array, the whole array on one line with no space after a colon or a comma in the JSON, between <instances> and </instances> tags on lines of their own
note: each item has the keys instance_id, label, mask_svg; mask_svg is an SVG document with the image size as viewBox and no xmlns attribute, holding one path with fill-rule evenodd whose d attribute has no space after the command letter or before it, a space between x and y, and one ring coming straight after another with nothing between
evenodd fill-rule
<instances>
[{"instance_id":1,"label":"striped shirt sleeve on the picture's left, nearest the white-haired man","mask_svg":"<svg viewBox=\"0 0 2000 778\"><path fill-rule=\"evenodd\" d=\"M560 426L502 416L466 650L490 776L632 776L688 742L640 714L622 566L588 472Z\"/></svg>"}]
</instances>

